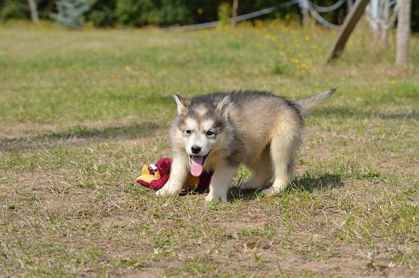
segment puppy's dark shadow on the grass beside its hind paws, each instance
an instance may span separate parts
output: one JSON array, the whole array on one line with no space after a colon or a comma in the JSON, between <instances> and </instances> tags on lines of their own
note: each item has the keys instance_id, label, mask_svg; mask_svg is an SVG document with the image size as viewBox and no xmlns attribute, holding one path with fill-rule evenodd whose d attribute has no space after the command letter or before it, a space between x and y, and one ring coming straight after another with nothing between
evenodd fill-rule
<instances>
[{"instance_id":1,"label":"puppy's dark shadow on the grass beside its hind paws","mask_svg":"<svg viewBox=\"0 0 419 278\"><path fill-rule=\"evenodd\" d=\"M259 190L240 190L239 186L230 188L230 199L244 199L252 200L261 196L260 191L264 188L270 187L272 182ZM292 190L300 190L302 192L314 192L318 190L326 190L343 186L341 176L332 173L324 173L321 176L311 176L304 173L302 176L296 177L285 192Z\"/></svg>"}]
</instances>

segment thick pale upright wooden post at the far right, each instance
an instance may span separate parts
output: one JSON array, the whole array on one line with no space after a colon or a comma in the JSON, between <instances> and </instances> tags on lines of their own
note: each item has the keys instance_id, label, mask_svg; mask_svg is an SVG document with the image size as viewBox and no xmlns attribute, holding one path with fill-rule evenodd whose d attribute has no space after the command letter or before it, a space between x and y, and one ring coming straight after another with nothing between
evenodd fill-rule
<instances>
[{"instance_id":1,"label":"thick pale upright wooden post at the far right","mask_svg":"<svg viewBox=\"0 0 419 278\"><path fill-rule=\"evenodd\" d=\"M399 0L399 13L397 14L396 65L407 65L409 62L410 17L411 0Z\"/></svg>"}]
</instances>

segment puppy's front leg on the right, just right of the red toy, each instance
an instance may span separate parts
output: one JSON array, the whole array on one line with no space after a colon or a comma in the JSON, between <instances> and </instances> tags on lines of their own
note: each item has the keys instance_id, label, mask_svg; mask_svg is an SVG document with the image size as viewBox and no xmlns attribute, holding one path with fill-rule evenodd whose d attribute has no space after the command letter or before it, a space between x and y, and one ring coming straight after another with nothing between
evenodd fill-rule
<instances>
[{"instance_id":1,"label":"puppy's front leg on the right, just right of the red toy","mask_svg":"<svg viewBox=\"0 0 419 278\"><path fill-rule=\"evenodd\" d=\"M228 165L227 162L219 162L214 169L211 178L210 193L208 193L205 201L227 201L228 189L237 167Z\"/></svg>"}]
</instances>

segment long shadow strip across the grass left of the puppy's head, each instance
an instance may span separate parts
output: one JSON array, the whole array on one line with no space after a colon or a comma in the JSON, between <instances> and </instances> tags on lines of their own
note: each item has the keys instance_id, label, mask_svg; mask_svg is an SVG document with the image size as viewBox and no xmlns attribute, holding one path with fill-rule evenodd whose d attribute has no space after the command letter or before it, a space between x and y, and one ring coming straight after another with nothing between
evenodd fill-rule
<instances>
[{"instance_id":1,"label":"long shadow strip across the grass left of the puppy's head","mask_svg":"<svg viewBox=\"0 0 419 278\"><path fill-rule=\"evenodd\" d=\"M47 132L34 137L1 138L0 150L14 151L36 148L50 148L58 144L88 144L91 139L135 139L152 137L160 128L156 123L129 123L104 127L78 125L63 132Z\"/></svg>"}]
</instances>

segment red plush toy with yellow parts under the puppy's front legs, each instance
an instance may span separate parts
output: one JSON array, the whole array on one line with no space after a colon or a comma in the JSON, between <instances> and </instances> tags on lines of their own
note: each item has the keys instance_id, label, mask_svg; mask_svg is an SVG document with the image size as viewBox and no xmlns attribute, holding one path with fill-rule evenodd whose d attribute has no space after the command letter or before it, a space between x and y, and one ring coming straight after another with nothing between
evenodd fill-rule
<instances>
[{"instance_id":1,"label":"red plush toy with yellow parts under the puppy's front legs","mask_svg":"<svg viewBox=\"0 0 419 278\"><path fill-rule=\"evenodd\" d=\"M141 176L136 182L153 190L159 190L169 180L171 165L172 159L169 157L161 158L156 164L144 164ZM212 172L203 172L199 177L189 174L184 187L187 190L203 192L210 186L211 176Z\"/></svg>"}]
</instances>

